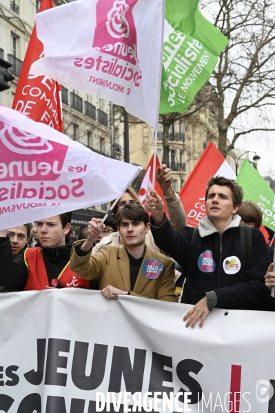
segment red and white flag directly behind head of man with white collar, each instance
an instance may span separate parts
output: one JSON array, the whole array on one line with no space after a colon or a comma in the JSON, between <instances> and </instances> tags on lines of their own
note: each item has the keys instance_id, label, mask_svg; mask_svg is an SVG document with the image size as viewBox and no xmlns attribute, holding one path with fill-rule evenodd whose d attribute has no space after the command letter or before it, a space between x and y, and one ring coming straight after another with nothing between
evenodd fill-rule
<instances>
[{"instance_id":1,"label":"red and white flag directly behind head of man with white collar","mask_svg":"<svg viewBox=\"0 0 275 413\"><path fill-rule=\"evenodd\" d=\"M236 175L229 163L225 161L214 143L210 142L201 158L198 159L183 188L181 188L181 192L179 192L188 225L197 227L199 221L206 215L205 190L207 188L207 181L217 175L228 179L236 179Z\"/></svg>"}]
</instances>

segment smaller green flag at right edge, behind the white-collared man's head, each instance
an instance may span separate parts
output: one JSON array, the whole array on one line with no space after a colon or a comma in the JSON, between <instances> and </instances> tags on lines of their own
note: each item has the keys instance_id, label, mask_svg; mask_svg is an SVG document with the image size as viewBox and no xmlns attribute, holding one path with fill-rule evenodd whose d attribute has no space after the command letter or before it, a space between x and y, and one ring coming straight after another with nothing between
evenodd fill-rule
<instances>
[{"instance_id":1,"label":"smaller green flag at right edge, behind the white-collared man's head","mask_svg":"<svg viewBox=\"0 0 275 413\"><path fill-rule=\"evenodd\" d=\"M243 161L236 182L243 188L243 199L257 203L261 208L263 225L275 231L275 194L247 159Z\"/></svg>"}]
</instances>

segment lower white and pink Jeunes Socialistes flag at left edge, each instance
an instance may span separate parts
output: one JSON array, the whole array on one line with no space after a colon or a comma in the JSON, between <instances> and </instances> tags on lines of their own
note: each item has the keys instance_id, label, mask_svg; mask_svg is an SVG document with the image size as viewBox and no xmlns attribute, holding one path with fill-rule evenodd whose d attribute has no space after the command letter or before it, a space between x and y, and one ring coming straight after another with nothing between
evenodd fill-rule
<instances>
[{"instance_id":1,"label":"lower white and pink Jeunes Socialistes flag at left edge","mask_svg":"<svg viewBox=\"0 0 275 413\"><path fill-rule=\"evenodd\" d=\"M0 229L112 201L139 172L0 106Z\"/></svg>"}]
</instances>

